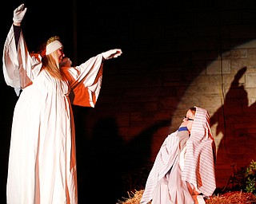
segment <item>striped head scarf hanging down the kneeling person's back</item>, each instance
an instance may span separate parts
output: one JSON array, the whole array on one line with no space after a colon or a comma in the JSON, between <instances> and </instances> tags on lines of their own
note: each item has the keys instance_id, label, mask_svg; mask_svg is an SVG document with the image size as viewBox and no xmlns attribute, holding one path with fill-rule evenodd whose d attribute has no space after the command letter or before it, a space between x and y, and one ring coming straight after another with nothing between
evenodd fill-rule
<instances>
[{"instance_id":1,"label":"striped head scarf hanging down the kneeling person's back","mask_svg":"<svg viewBox=\"0 0 256 204\"><path fill-rule=\"evenodd\" d=\"M196 108L190 139L186 141L186 159L182 180L192 183L210 196L216 188L215 143L210 131L210 116L206 109Z\"/></svg>"}]
</instances>

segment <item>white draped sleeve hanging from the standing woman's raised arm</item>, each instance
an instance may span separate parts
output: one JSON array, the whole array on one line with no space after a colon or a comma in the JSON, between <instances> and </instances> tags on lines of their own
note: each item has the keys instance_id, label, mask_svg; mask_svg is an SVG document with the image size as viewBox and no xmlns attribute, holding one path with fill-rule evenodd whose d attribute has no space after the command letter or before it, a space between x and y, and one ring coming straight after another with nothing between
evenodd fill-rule
<instances>
[{"instance_id":1,"label":"white draped sleeve hanging from the standing woman's raised arm","mask_svg":"<svg viewBox=\"0 0 256 204\"><path fill-rule=\"evenodd\" d=\"M18 95L21 88L26 88L34 80L34 77L38 76L41 67L41 57L30 55L22 31L18 41L18 49L16 49L14 27L11 26L2 55L2 69L6 84L14 87Z\"/></svg>"}]
</instances>

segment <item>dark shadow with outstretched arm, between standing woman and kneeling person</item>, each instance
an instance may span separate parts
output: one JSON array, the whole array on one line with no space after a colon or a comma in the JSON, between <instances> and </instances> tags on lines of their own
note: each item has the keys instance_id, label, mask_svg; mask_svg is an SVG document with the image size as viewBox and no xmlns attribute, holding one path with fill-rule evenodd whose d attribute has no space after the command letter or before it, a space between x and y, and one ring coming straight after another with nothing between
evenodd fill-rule
<instances>
[{"instance_id":1,"label":"dark shadow with outstretched arm, between standing woman and kneeling person","mask_svg":"<svg viewBox=\"0 0 256 204\"><path fill-rule=\"evenodd\" d=\"M98 120L84 147L86 155L78 156L78 163L83 163L83 169L78 169L78 202L117 203L130 190L143 189L151 168L148 160L154 132L166 122L152 125L125 143L113 117Z\"/></svg>"}]
</instances>

